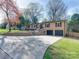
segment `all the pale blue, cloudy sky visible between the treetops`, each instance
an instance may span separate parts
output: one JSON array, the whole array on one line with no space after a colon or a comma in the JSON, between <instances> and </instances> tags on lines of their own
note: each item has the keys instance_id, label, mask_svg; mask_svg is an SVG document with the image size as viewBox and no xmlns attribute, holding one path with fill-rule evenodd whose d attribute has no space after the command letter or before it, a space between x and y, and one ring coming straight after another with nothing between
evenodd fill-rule
<instances>
[{"instance_id":1,"label":"all the pale blue, cloudy sky visible between the treetops","mask_svg":"<svg viewBox=\"0 0 79 59\"><path fill-rule=\"evenodd\" d=\"M28 4L31 2L40 3L42 6L46 6L48 0L15 0L17 6L21 9L27 8ZM67 15L71 16L74 13L79 13L79 0L63 0L65 5L67 6ZM3 15L0 15L0 20ZM1 23L1 21L0 21Z\"/></svg>"}]
</instances>

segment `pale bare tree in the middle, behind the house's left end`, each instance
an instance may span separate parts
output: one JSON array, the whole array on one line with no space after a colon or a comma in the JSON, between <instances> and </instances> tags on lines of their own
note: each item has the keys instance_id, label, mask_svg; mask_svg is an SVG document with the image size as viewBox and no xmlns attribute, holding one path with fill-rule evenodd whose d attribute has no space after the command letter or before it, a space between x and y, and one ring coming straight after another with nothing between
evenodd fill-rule
<instances>
[{"instance_id":1,"label":"pale bare tree in the middle, behind the house's left end","mask_svg":"<svg viewBox=\"0 0 79 59\"><path fill-rule=\"evenodd\" d=\"M42 10L43 8L39 3L30 3L24 13L26 18L29 18L33 24L36 24L42 15Z\"/></svg>"}]
</instances>

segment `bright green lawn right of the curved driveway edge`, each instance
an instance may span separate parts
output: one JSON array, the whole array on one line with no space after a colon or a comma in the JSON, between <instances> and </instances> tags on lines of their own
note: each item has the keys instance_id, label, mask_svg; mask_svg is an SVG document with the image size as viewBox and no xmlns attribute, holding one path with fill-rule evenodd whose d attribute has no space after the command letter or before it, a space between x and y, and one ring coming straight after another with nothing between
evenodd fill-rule
<instances>
[{"instance_id":1,"label":"bright green lawn right of the curved driveway edge","mask_svg":"<svg viewBox=\"0 0 79 59\"><path fill-rule=\"evenodd\" d=\"M47 49L44 59L79 59L79 40L63 38Z\"/></svg>"}]
</instances>

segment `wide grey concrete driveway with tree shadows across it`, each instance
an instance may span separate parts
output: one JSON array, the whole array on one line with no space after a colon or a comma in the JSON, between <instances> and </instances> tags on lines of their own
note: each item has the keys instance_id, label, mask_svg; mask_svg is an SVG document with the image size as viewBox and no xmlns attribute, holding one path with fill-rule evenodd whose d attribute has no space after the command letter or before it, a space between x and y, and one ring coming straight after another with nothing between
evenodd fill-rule
<instances>
[{"instance_id":1,"label":"wide grey concrete driveway with tree shadows across it","mask_svg":"<svg viewBox=\"0 0 79 59\"><path fill-rule=\"evenodd\" d=\"M0 36L0 59L43 59L48 46L60 39L62 37Z\"/></svg>"}]
</instances>

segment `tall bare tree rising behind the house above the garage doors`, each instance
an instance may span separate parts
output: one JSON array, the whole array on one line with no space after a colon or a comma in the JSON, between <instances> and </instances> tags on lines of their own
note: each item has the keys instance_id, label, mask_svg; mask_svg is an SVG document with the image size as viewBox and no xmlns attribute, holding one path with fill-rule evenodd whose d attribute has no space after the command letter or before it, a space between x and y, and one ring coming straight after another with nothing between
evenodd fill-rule
<instances>
[{"instance_id":1,"label":"tall bare tree rising behind the house above the garage doors","mask_svg":"<svg viewBox=\"0 0 79 59\"><path fill-rule=\"evenodd\" d=\"M50 20L61 20L65 16L66 9L62 0L48 1L48 16Z\"/></svg>"}]
</instances>

